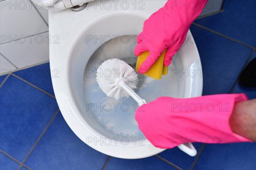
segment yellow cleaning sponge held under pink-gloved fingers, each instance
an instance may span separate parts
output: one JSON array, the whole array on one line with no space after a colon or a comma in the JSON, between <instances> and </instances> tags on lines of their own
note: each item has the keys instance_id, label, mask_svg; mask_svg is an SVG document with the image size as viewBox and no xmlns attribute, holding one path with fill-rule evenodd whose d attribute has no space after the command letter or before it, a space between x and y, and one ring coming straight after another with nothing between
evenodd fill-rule
<instances>
[{"instance_id":1,"label":"yellow cleaning sponge held under pink-gloved fingers","mask_svg":"<svg viewBox=\"0 0 256 170\"><path fill-rule=\"evenodd\" d=\"M168 66L163 65L165 53L166 53L166 50L163 51L163 53L160 55L160 57L157 59L154 65L152 65L151 68L149 68L149 70L144 73L144 75L152 77L154 79L162 79L162 75L167 75ZM137 64L136 64L136 71L139 70L140 65L145 61L148 55L149 55L149 51L145 51L139 55L137 59Z\"/></svg>"}]
</instances>

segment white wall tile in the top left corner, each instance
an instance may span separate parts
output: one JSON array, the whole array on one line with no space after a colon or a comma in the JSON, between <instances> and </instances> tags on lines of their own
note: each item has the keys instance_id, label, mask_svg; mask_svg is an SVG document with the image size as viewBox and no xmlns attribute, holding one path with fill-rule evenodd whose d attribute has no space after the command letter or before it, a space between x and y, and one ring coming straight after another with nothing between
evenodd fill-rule
<instances>
[{"instance_id":1,"label":"white wall tile in the top left corner","mask_svg":"<svg viewBox=\"0 0 256 170\"><path fill-rule=\"evenodd\" d=\"M44 31L48 26L29 0L0 2L0 44Z\"/></svg>"}]
</instances>

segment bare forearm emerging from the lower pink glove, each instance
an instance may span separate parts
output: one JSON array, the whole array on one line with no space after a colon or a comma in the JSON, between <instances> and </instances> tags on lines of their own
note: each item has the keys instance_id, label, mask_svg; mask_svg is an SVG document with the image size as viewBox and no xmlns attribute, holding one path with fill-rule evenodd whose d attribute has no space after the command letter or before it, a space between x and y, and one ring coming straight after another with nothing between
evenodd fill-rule
<instances>
[{"instance_id":1,"label":"bare forearm emerging from the lower pink glove","mask_svg":"<svg viewBox=\"0 0 256 170\"><path fill-rule=\"evenodd\" d=\"M256 99L235 104L230 127L234 133L256 141Z\"/></svg>"}]
</instances>

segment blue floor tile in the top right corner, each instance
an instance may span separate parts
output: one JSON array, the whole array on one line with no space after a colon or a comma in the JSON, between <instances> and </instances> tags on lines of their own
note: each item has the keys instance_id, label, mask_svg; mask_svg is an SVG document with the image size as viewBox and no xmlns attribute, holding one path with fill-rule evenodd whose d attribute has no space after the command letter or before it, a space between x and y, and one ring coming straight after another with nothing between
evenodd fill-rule
<instances>
[{"instance_id":1,"label":"blue floor tile in the top right corner","mask_svg":"<svg viewBox=\"0 0 256 170\"><path fill-rule=\"evenodd\" d=\"M255 17L255 0L225 0L223 12L195 20L195 23L254 47L256 44Z\"/></svg>"}]
</instances>

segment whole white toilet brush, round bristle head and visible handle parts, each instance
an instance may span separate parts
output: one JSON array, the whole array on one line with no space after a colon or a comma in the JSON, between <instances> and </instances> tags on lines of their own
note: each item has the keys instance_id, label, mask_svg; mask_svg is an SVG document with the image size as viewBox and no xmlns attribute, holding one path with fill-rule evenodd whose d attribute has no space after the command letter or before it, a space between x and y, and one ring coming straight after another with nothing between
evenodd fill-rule
<instances>
[{"instance_id":1,"label":"whole white toilet brush, round bristle head and visible handle parts","mask_svg":"<svg viewBox=\"0 0 256 170\"><path fill-rule=\"evenodd\" d=\"M121 59L108 59L97 69L96 80L99 88L109 97L116 100L132 96L139 106L146 104L134 90L137 87L138 76L134 69ZM197 151L191 143L177 146L190 156L195 156Z\"/></svg>"}]
</instances>

